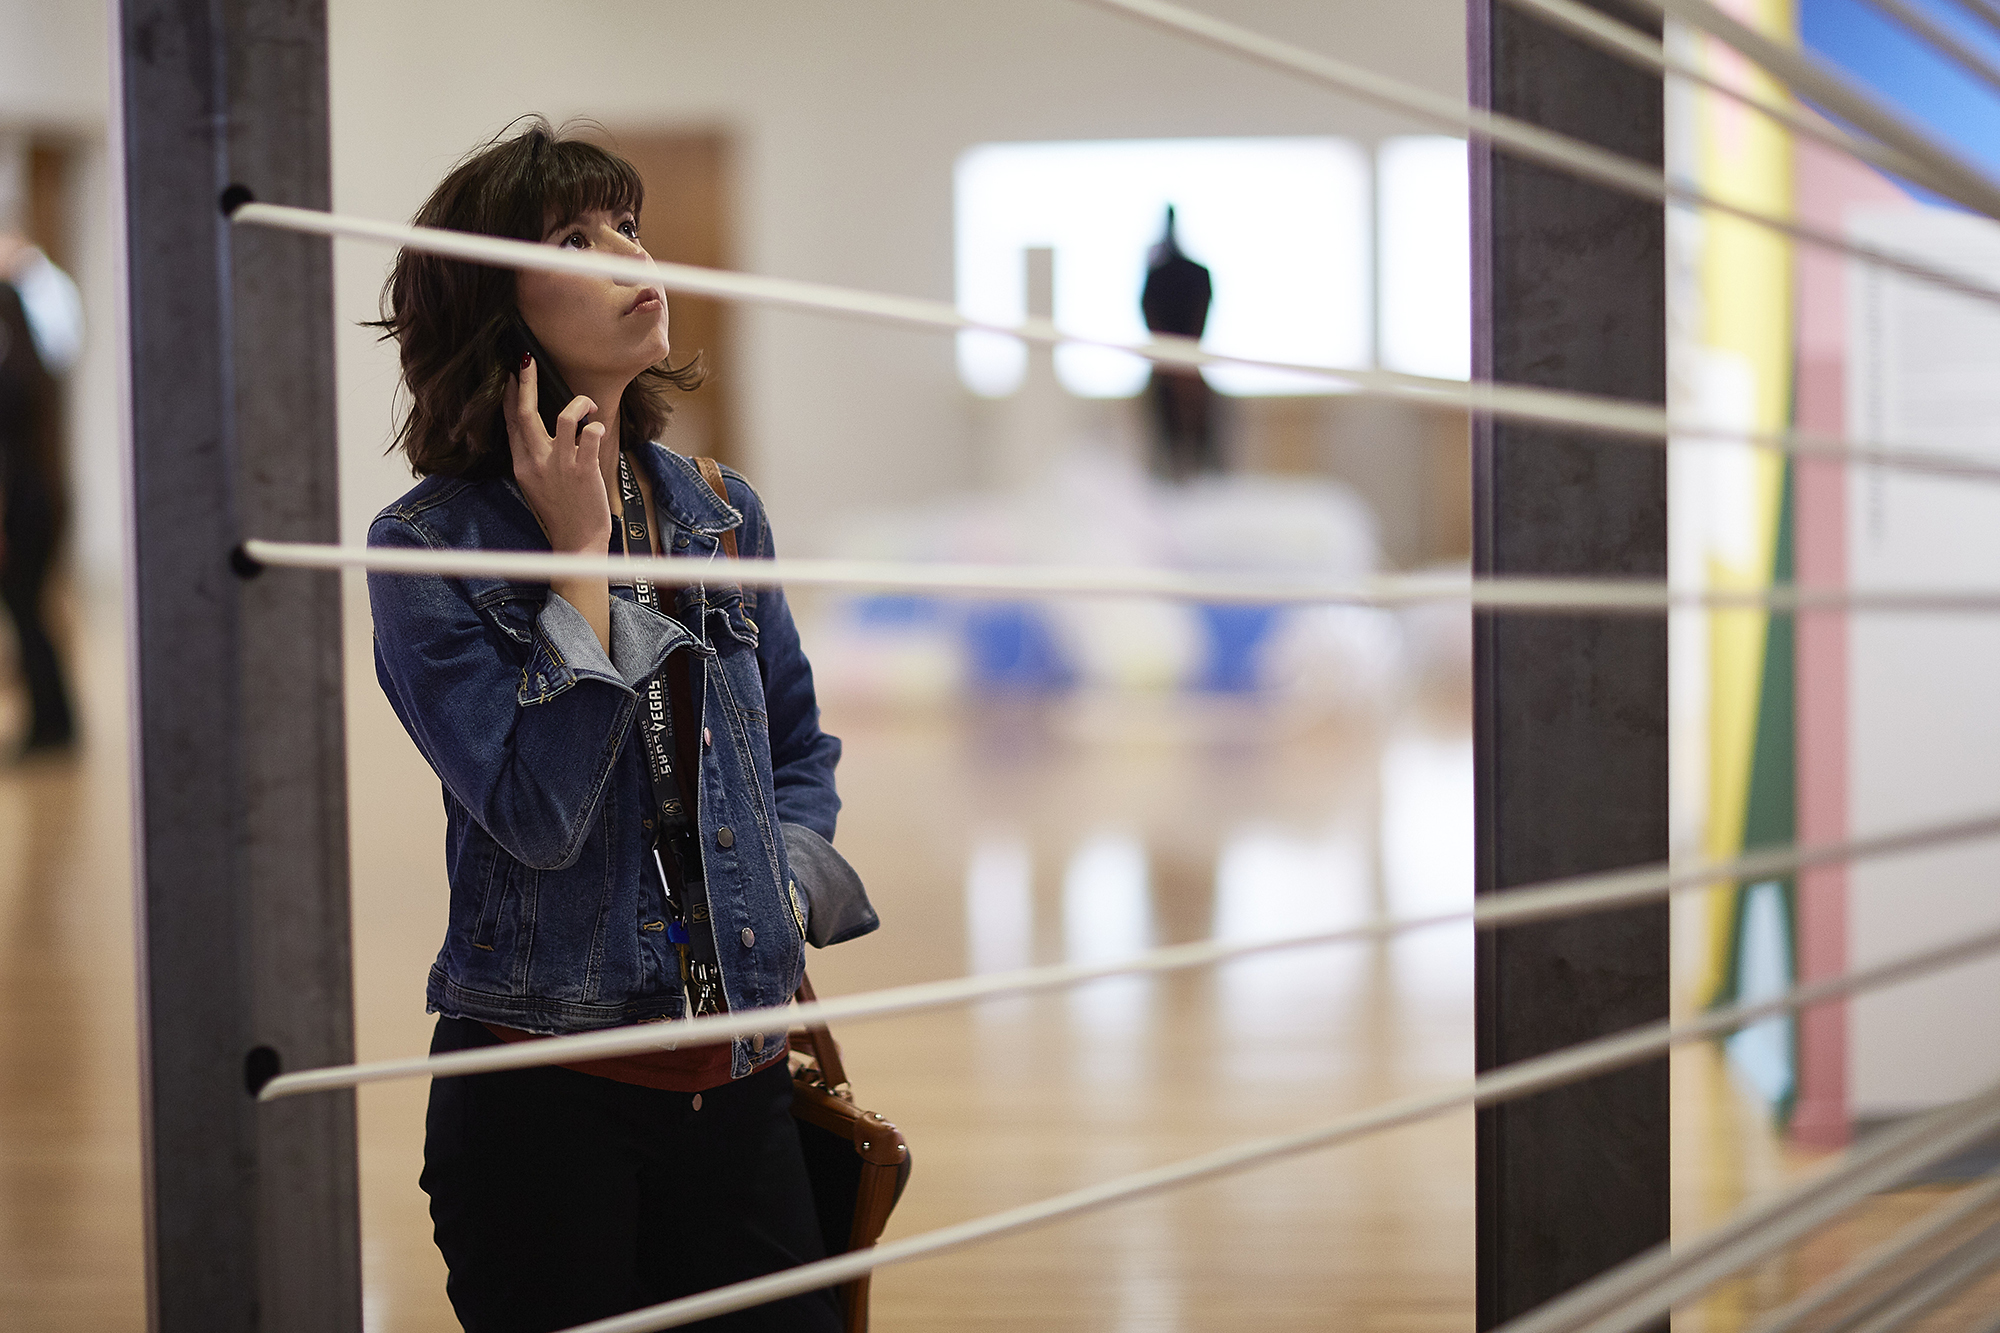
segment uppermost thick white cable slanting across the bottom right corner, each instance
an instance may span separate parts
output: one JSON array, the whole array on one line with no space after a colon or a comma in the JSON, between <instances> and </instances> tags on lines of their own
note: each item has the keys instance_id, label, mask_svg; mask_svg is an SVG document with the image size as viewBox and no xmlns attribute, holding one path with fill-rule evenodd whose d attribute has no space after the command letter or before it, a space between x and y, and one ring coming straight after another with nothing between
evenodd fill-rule
<instances>
[{"instance_id":1,"label":"uppermost thick white cable slanting across the bottom right corner","mask_svg":"<svg viewBox=\"0 0 2000 1333\"><path fill-rule=\"evenodd\" d=\"M1500 1333L1632 1333L1876 1193L2000 1127L2000 1087L1914 1117L1852 1149L1840 1167L1740 1209L1702 1235L1652 1247L1600 1273Z\"/></svg>"}]
</instances>

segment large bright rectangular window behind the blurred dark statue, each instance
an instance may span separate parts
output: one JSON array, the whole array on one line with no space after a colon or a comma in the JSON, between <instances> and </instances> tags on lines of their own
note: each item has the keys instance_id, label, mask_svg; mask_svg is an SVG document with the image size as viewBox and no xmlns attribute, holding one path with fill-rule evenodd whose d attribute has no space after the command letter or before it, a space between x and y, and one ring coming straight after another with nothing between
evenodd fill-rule
<instances>
[{"instance_id":1,"label":"large bright rectangular window behind the blurred dark statue","mask_svg":"<svg viewBox=\"0 0 2000 1333\"><path fill-rule=\"evenodd\" d=\"M958 308L970 316L1024 318L1024 254L1048 246L1056 324L1080 336L1142 340L1146 252L1172 204L1182 250L1214 282L1204 346L1306 364L1370 360L1368 158L1348 140L984 144L958 160L956 190ZM1016 338L958 338L958 374L976 394L1014 392L1026 364ZM1144 388L1148 368L1126 352L1060 346L1056 374L1074 394L1124 398ZM1206 374L1230 394L1328 392L1312 376Z\"/></svg>"}]
</instances>

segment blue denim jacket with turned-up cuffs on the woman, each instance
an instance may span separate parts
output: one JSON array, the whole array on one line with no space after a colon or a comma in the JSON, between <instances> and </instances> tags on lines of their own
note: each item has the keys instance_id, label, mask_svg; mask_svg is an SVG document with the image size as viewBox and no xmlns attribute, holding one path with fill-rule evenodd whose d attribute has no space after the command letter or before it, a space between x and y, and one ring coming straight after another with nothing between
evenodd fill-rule
<instances>
[{"instance_id":1,"label":"blue denim jacket with turned-up cuffs on the woman","mask_svg":"<svg viewBox=\"0 0 2000 1333\"><path fill-rule=\"evenodd\" d=\"M686 458L658 444L634 456L662 548L714 554L736 528L740 554L772 554L742 476L724 470L722 504ZM368 544L548 550L510 478L430 476L382 510ZM680 1015L638 739L640 687L670 652L702 666L698 827L724 995L752 1009L798 987L808 885L792 863L838 863L840 741L820 731L784 592L662 586L678 620L638 604L630 584L612 592L606 652L546 582L368 576L376 675L444 783L452 913L430 969L436 1013L534 1033ZM766 1055L784 1035L774 1027L758 1043ZM732 1063L736 1077L750 1071L748 1041Z\"/></svg>"}]
</instances>

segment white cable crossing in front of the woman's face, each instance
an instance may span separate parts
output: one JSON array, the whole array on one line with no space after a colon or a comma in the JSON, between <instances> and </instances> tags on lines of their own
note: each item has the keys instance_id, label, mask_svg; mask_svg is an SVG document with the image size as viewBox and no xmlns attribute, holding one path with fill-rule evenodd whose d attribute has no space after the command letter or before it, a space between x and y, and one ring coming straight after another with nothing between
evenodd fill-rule
<instances>
[{"instance_id":1,"label":"white cable crossing in front of the woman's face","mask_svg":"<svg viewBox=\"0 0 2000 1333\"><path fill-rule=\"evenodd\" d=\"M348 240L404 246L408 250L444 254L474 264L494 264L498 268L590 274L618 278L622 282L644 282L672 292L714 296L746 304L782 306L788 310L816 310L822 314L844 314L954 332L998 332L1022 338L1024 342L1048 346L1062 342L1102 346L1144 356L1146 360L1168 366L1258 366L1266 370L1314 374L1328 382L1338 382L1362 396L1450 406L1464 412L1486 412L1510 420L1576 426L1592 434L1628 440L1660 442L1672 438L1674 442L1688 444L1748 444L1752 448L1770 448L1796 454L1800 458L1830 458L1838 462L1876 464L1910 472L1932 472L1938 476L2000 480L2000 464L1990 458L1920 446L1912 448L1896 442L1850 440L1808 430L1736 430L1696 420L1670 418L1664 408L1650 402L1602 398L1596 394L1532 388L1526 384L1468 384L1466 380L1438 380L1422 374L1402 374L1396 370L1356 370L1350 366L1314 366L1292 360L1228 356L1204 350L1194 338L1156 336L1146 342L1078 338L1062 332L1054 322L1044 318L1030 318L1020 324L976 320L938 300L886 296L882 292L862 292L844 286L828 286L824 282L766 278L720 268L696 268L692 264L662 264L656 260L622 258L616 254L580 254L574 250L536 244L532 240L446 232L428 226L402 226L398 222L376 222L372 218L352 218L344 214L320 212L316 208L292 208L288 204L242 204L230 214L230 218L244 226L270 226L290 232L308 232L314 236L342 236Z\"/></svg>"}]
</instances>

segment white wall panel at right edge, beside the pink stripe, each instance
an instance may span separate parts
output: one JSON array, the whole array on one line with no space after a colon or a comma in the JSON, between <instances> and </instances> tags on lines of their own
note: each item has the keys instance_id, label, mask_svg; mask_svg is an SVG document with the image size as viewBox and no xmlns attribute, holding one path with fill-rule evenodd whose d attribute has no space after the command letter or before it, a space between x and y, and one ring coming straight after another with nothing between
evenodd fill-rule
<instances>
[{"instance_id":1,"label":"white wall panel at right edge, beside the pink stripe","mask_svg":"<svg viewBox=\"0 0 2000 1333\"><path fill-rule=\"evenodd\" d=\"M2000 280L2000 226L1936 208L1860 210L1856 238ZM2000 312L1880 268L1848 286L1848 422L1868 440L2000 458ZM2000 568L2000 490L1852 468L1856 588L1988 588ZM2000 622L1992 616L1848 618L1854 837L2000 807ZM1848 881L1854 967L2000 927L1992 841L1860 861ZM2000 1079L2000 961L1864 997L1852 1007L1852 1105L1862 1119L1968 1097Z\"/></svg>"}]
</instances>

